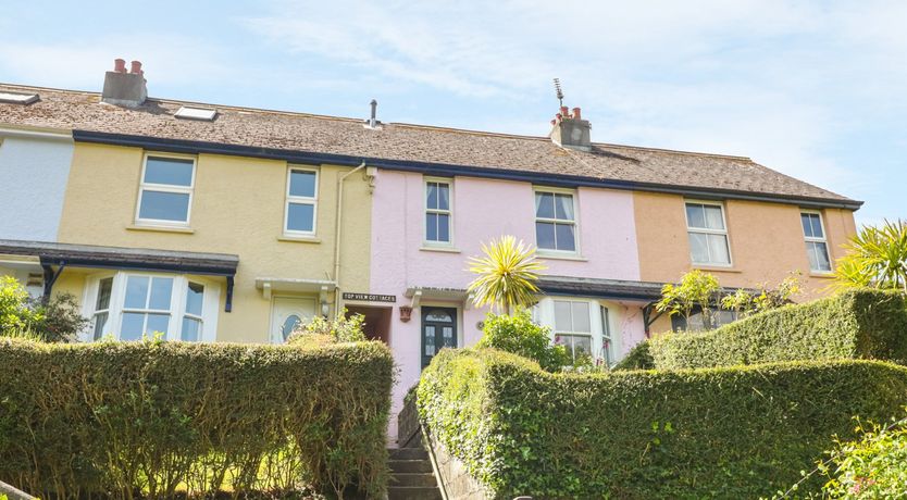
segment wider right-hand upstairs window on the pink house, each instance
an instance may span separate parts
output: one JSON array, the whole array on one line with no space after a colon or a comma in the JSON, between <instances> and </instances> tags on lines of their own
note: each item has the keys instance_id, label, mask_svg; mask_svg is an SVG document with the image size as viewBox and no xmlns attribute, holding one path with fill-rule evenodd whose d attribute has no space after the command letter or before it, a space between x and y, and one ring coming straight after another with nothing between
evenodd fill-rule
<instances>
[{"instance_id":1,"label":"wider right-hand upstairs window on the pink house","mask_svg":"<svg viewBox=\"0 0 907 500\"><path fill-rule=\"evenodd\" d=\"M575 191L535 188L535 245L545 252L577 253Z\"/></svg>"}]
</instances>

